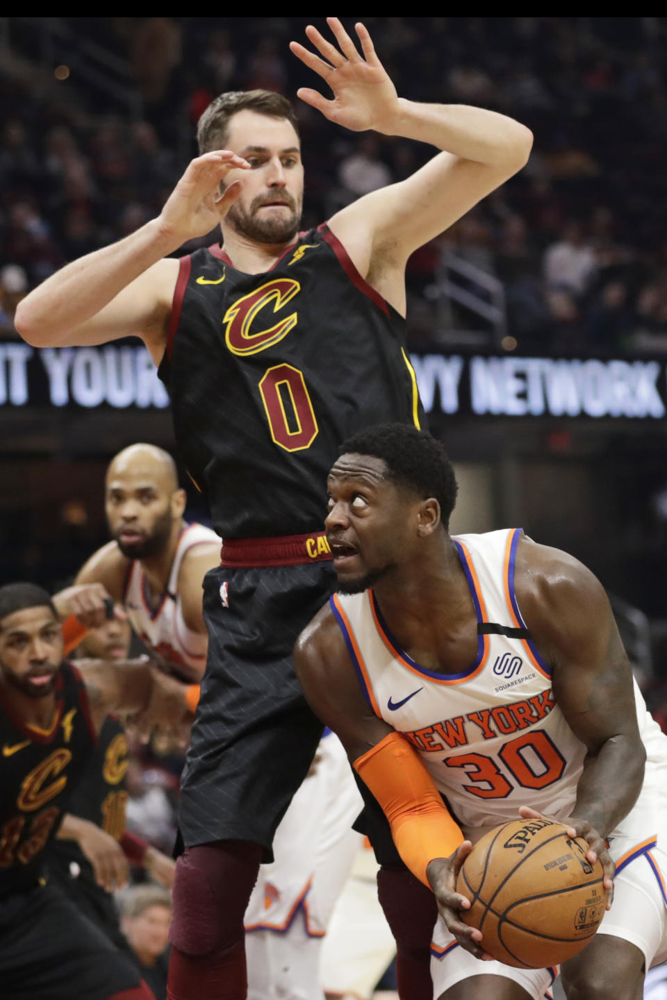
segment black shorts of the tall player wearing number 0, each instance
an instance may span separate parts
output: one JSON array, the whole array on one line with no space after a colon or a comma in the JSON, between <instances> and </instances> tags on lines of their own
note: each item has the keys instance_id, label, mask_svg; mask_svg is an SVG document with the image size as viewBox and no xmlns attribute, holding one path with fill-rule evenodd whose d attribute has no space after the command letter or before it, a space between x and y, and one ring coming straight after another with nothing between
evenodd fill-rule
<instances>
[{"instance_id":1,"label":"black shorts of the tall player wearing number 0","mask_svg":"<svg viewBox=\"0 0 667 1000\"><path fill-rule=\"evenodd\" d=\"M331 562L206 574L208 662L181 779L186 847L249 840L272 860L276 827L322 735L292 651L335 581Z\"/></svg>"}]
</instances>

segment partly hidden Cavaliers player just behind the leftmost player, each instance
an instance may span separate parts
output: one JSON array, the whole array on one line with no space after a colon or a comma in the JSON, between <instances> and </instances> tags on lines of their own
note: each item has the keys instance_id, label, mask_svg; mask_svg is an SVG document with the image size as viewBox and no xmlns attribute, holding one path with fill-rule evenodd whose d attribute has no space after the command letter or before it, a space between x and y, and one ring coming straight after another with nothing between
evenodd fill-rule
<instances>
[{"instance_id":1,"label":"partly hidden Cavaliers player just behind the leftmost player","mask_svg":"<svg viewBox=\"0 0 667 1000\"><path fill-rule=\"evenodd\" d=\"M129 622L116 616L86 634L75 658L107 660L111 666L128 658L130 639ZM47 861L51 880L121 948L127 945L112 893L127 882L128 862L168 889L175 869L172 858L126 830L127 768L125 727L107 715Z\"/></svg>"}]
</instances>

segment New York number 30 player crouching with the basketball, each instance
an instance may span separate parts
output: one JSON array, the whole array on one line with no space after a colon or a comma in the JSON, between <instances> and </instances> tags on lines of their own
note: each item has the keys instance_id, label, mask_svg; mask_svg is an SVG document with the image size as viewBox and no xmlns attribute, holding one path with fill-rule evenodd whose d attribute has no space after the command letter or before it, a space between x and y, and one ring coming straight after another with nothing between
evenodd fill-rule
<instances>
[{"instance_id":1,"label":"New York number 30 player crouching with the basketball","mask_svg":"<svg viewBox=\"0 0 667 1000\"><path fill-rule=\"evenodd\" d=\"M609 901L616 864L613 907L562 966L567 997L638 1000L667 957L667 737L601 584L520 529L450 537L456 481L424 432L352 436L328 488L340 593L300 637L296 668L433 887L434 996L538 1000L553 981L488 960L454 888L471 841L527 807L588 841Z\"/></svg>"}]
</instances>

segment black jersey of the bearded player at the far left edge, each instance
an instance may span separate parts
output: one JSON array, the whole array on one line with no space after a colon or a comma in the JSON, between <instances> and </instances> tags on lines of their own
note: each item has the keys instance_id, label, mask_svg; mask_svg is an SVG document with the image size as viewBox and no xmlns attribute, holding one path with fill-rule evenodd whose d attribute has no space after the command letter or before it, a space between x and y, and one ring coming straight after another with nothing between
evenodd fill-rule
<instances>
[{"instance_id":1,"label":"black jersey of the bearded player at the far left edge","mask_svg":"<svg viewBox=\"0 0 667 1000\"><path fill-rule=\"evenodd\" d=\"M96 735L81 675L64 662L51 728L28 728L0 700L0 897L35 885Z\"/></svg>"}]
</instances>

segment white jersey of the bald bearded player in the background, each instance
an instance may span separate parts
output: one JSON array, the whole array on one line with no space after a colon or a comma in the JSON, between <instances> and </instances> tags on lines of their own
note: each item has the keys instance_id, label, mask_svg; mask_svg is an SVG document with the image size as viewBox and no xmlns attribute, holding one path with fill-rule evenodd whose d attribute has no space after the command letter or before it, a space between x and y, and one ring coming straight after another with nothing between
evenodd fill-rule
<instances>
[{"instance_id":1,"label":"white jersey of the bald bearded player in the background","mask_svg":"<svg viewBox=\"0 0 667 1000\"><path fill-rule=\"evenodd\" d=\"M178 574L186 552L196 545L222 542L211 528L189 524L181 532L169 580L157 607L148 597L148 582L138 559L127 570L123 605L130 625L142 642L174 666L185 679L197 679L206 663L207 637L193 632L183 620ZM193 675L193 670L196 672Z\"/></svg>"}]
</instances>

